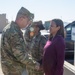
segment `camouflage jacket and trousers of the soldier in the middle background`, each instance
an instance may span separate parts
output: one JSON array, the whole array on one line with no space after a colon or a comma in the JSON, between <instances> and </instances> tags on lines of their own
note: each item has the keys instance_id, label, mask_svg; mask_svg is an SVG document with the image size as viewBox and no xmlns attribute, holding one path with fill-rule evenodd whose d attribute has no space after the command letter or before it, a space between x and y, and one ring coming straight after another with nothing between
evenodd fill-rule
<instances>
[{"instance_id":1,"label":"camouflage jacket and trousers of the soldier in the middle background","mask_svg":"<svg viewBox=\"0 0 75 75\"><path fill-rule=\"evenodd\" d=\"M46 38L41 35L39 32L38 35L34 37L30 37L30 27L26 29L24 39L25 42L27 43L29 54L32 56L33 60L38 63L42 59L43 56L43 48L44 45L46 44ZM36 70L35 66L33 63L27 64L26 68L28 70L28 75L43 75L44 72L43 70Z\"/></svg>"}]
</instances>

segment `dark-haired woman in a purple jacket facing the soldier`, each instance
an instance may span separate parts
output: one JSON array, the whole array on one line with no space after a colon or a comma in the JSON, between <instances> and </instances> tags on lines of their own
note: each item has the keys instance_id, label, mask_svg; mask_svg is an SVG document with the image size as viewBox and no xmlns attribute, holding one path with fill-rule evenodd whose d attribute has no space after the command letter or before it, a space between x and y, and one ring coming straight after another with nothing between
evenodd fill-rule
<instances>
[{"instance_id":1,"label":"dark-haired woman in a purple jacket facing the soldier","mask_svg":"<svg viewBox=\"0 0 75 75\"><path fill-rule=\"evenodd\" d=\"M64 64L64 26L60 19L53 19L50 37L44 47L43 69L45 75L63 75Z\"/></svg>"}]
</instances>

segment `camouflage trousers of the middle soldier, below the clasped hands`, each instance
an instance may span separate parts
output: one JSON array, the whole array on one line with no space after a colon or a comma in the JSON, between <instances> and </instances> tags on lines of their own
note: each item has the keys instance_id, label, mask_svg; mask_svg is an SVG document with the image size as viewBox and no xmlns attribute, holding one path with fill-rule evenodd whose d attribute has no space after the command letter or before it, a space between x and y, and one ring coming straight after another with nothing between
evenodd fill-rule
<instances>
[{"instance_id":1,"label":"camouflage trousers of the middle soldier, below the clasped hands","mask_svg":"<svg viewBox=\"0 0 75 75\"><path fill-rule=\"evenodd\" d=\"M44 75L43 70L36 70L34 65L27 65L28 75Z\"/></svg>"}]
</instances>

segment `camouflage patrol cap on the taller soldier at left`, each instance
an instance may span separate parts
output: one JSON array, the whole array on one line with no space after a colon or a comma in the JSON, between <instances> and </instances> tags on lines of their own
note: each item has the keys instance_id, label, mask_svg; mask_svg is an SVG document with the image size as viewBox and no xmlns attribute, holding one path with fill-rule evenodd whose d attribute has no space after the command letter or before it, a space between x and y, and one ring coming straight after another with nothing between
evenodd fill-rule
<instances>
[{"instance_id":1,"label":"camouflage patrol cap on the taller soldier at left","mask_svg":"<svg viewBox=\"0 0 75 75\"><path fill-rule=\"evenodd\" d=\"M27 10L24 7L21 7L21 9L17 13L18 16L27 16L30 20L34 19L34 14L31 13L29 10Z\"/></svg>"}]
</instances>

